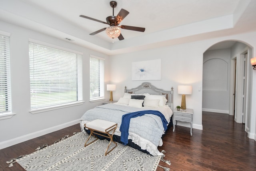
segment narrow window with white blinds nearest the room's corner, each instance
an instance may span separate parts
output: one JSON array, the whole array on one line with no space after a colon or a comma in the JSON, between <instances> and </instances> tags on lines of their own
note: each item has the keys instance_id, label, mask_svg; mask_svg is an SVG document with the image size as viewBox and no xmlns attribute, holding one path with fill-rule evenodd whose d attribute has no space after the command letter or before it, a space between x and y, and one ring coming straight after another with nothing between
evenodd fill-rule
<instances>
[{"instance_id":1,"label":"narrow window with white blinds nearest the room's corner","mask_svg":"<svg viewBox=\"0 0 256 171\"><path fill-rule=\"evenodd\" d=\"M90 57L90 100L104 99L104 59Z\"/></svg>"}]
</instances>

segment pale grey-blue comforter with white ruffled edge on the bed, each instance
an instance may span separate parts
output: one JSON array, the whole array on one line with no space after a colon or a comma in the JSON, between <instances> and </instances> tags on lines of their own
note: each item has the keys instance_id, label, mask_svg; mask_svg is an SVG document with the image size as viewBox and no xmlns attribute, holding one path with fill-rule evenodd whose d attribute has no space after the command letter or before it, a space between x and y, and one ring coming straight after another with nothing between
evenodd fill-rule
<instances>
[{"instance_id":1,"label":"pale grey-blue comforter with white ruffled edge on the bed","mask_svg":"<svg viewBox=\"0 0 256 171\"><path fill-rule=\"evenodd\" d=\"M164 115L168 123L170 122L170 117L172 116L172 110L168 107L168 105L163 107L136 108L113 103L101 105L86 111L86 113L84 113L80 119L81 129L84 131L84 123L94 119L103 119L118 123L118 127L114 134L120 136L121 132L119 128L122 123L122 115L141 110L158 110ZM160 117L146 114L130 120L128 139L132 139L132 142L139 145L141 149L147 150L151 155L163 155L157 149L157 146L162 145L161 137L163 133L164 127Z\"/></svg>"}]
</instances>

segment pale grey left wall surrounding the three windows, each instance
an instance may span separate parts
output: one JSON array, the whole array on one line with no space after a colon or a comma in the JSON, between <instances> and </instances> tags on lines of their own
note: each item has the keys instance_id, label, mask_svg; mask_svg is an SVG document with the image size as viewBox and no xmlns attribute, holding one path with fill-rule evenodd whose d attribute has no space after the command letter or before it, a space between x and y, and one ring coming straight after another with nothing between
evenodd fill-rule
<instances>
[{"instance_id":1,"label":"pale grey left wall surrounding the three windows","mask_svg":"<svg viewBox=\"0 0 256 171\"><path fill-rule=\"evenodd\" d=\"M109 80L109 57L107 55L58 40L38 32L22 27L14 26L0 21L0 30L8 32L10 36L10 61L11 61L11 88L12 88L12 111L16 113L10 119L0 120L0 149L6 145L19 143L45 133L56 131L78 123L83 113L101 105L102 101L90 103L89 92L89 55L93 54L105 58L106 80ZM52 111L32 114L30 110L30 78L28 39L39 40L54 44L78 52L82 52L83 63L83 105L56 109ZM107 91L105 92L108 95Z\"/></svg>"}]
</instances>

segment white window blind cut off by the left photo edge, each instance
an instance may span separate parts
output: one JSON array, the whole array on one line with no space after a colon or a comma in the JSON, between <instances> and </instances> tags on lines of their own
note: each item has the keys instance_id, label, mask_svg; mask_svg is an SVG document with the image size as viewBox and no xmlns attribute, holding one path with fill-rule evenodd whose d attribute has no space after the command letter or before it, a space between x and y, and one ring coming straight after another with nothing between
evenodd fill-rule
<instances>
[{"instance_id":1,"label":"white window blind cut off by the left photo edge","mask_svg":"<svg viewBox=\"0 0 256 171\"><path fill-rule=\"evenodd\" d=\"M0 35L0 114L11 111L9 37Z\"/></svg>"}]
</instances>

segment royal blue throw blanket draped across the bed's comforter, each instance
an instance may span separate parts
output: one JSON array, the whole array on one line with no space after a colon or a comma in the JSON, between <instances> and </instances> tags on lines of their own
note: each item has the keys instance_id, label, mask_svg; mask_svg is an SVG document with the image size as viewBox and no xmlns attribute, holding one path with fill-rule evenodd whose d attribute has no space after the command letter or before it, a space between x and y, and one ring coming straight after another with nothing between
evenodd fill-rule
<instances>
[{"instance_id":1,"label":"royal blue throw blanket draped across the bed's comforter","mask_svg":"<svg viewBox=\"0 0 256 171\"><path fill-rule=\"evenodd\" d=\"M160 111L156 110L143 110L143 111L136 111L132 113L127 113L122 116L122 123L120 126L120 131L121 131L121 137L120 140L123 142L124 145L128 144L128 131L129 131L129 126L130 126L130 119L138 116L142 116L145 114L152 114L152 115L157 115L162 119L162 123L164 126L164 131L167 130L167 124L168 122L166 121L164 115Z\"/></svg>"}]
</instances>

